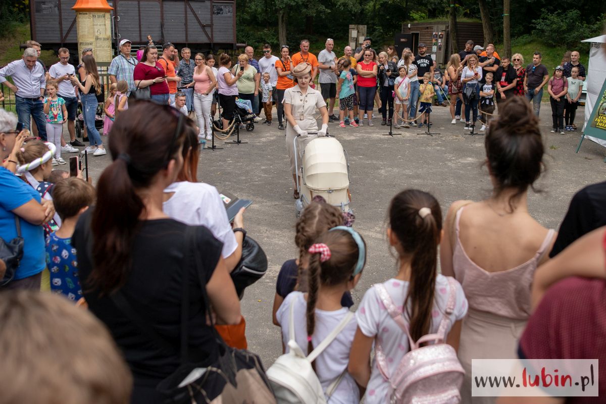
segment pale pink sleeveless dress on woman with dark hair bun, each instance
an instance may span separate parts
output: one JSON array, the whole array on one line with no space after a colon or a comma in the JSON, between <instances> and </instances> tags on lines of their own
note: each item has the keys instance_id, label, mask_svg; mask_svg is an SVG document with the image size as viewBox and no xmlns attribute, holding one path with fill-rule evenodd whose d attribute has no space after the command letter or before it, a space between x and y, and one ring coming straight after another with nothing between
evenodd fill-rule
<instances>
[{"instance_id":1,"label":"pale pink sleeveless dress on woman with dark hair bun","mask_svg":"<svg viewBox=\"0 0 606 404\"><path fill-rule=\"evenodd\" d=\"M471 397L471 359L517 357L518 341L530 317L530 286L534 271L556 232L549 230L541 247L527 262L506 271L490 273L474 263L461 244L459 221L455 218L453 248L454 277L463 286L469 303L461 327L459 360L465 369L461 403L494 403L496 397Z\"/></svg>"}]
</instances>

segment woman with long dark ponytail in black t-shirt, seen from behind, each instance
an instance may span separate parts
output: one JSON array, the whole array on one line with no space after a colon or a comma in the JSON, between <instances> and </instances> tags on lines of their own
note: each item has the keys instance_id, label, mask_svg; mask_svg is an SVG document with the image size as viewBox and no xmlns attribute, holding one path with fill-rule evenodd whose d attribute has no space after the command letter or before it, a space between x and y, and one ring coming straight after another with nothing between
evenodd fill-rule
<instances>
[{"instance_id":1,"label":"woman with long dark ponytail in black t-shirt, seen from behind","mask_svg":"<svg viewBox=\"0 0 606 404\"><path fill-rule=\"evenodd\" d=\"M210 363L218 350L207 325L202 288L218 323L239 323L240 305L221 257L222 243L202 226L196 227L193 243L185 240L187 225L162 211L164 189L181 170L184 138L195 131L193 124L168 105L146 101L122 114L109 137L113 162L99 178L96 207L82 214L73 240L88 308L110 329L133 373L131 402L160 403L156 385L180 361L184 282L194 362ZM199 246L198 253L190 245ZM159 349L124 313L124 305L116 306L116 295L172 343L175 352Z\"/></svg>"}]
</instances>

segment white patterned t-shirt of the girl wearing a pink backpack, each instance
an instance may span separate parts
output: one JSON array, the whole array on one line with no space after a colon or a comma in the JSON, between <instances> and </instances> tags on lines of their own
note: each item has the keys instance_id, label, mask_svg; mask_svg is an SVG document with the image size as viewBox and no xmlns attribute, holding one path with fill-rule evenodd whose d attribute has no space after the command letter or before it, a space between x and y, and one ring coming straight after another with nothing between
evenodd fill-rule
<instances>
[{"instance_id":1,"label":"white patterned t-shirt of the girl wearing a pink backpack","mask_svg":"<svg viewBox=\"0 0 606 404\"><path fill-rule=\"evenodd\" d=\"M408 293L408 282L392 278L387 282L384 282L383 285L387 289L387 292L395 305L402 307L406 294ZM431 320L430 333L438 332L438 326L444 316L443 313L446 308L448 293L447 277L438 274L438 277L436 278L435 294L435 300L438 304L431 312L433 319ZM450 315L448 331L450 331L454 322L461 320L465 317L465 314L467 314L467 299L465 299L461 284L456 282L456 299L454 302L454 311ZM362 331L362 334L367 337L376 337L376 339L380 339L383 352L385 353L385 357L387 357L389 374L393 374L398 368L402 357L410 350L410 344L408 343L408 337L405 335L404 331L402 331L395 320L387 313L387 310L385 310L385 306L376 293L376 288L370 288L364 294L358 311L356 311L356 319L358 320L358 326L360 331ZM387 397L388 386L389 382L383 379L383 376L381 376L379 368L377 367L376 360L373 359L370 380L368 380L366 388L365 403L389 402L389 397Z\"/></svg>"}]
</instances>

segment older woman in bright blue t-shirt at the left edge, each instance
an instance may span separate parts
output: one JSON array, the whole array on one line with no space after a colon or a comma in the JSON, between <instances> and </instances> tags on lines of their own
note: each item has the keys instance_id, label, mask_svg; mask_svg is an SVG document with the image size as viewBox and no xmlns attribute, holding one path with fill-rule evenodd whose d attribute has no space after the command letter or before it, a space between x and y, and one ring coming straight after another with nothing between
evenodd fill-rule
<instances>
[{"instance_id":1,"label":"older woman in bright blue t-shirt at the left edge","mask_svg":"<svg viewBox=\"0 0 606 404\"><path fill-rule=\"evenodd\" d=\"M0 109L0 160L5 161L0 166L0 239L5 243L17 236L24 239L21 260L13 267L7 262L5 274L0 274L0 291L40 290L42 270L46 268L41 225L55 215L52 201L41 199L38 191L15 176L17 153L28 135L28 131L18 131L16 126L15 114Z\"/></svg>"}]
</instances>

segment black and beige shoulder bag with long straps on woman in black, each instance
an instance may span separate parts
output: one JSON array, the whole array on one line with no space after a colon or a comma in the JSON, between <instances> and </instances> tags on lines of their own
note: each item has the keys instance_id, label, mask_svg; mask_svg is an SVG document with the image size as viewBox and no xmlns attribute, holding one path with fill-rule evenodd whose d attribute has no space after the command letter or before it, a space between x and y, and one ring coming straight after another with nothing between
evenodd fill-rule
<instances>
[{"instance_id":1,"label":"black and beige shoulder bag with long straps on woman in black","mask_svg":"<svg viewBox=\"0 0 606 404\"><path fill-rule=\"evenodd\" d=\"M164 397L165 404L236 404L243 402L275 404L276 399L265 375L261 359L244 349L235 349L225 345L215 329L206 293L205 280L200 276L202 297L206 308L210 328L218 344L218 357L212 363L191 363L188 356L188 308L189 288L187 271L189 253L193 253L196 268L201 267L199 251L196 248L196 227L187 227L185 231L187 253L183 268L184 277L181 297L181 366L162 380L156 390ZM120 291L112 295L112 300L148 338L164 351L175 352L178 348L164 339L151 325L139 316Z\"/></svg>"}]
</instances>

